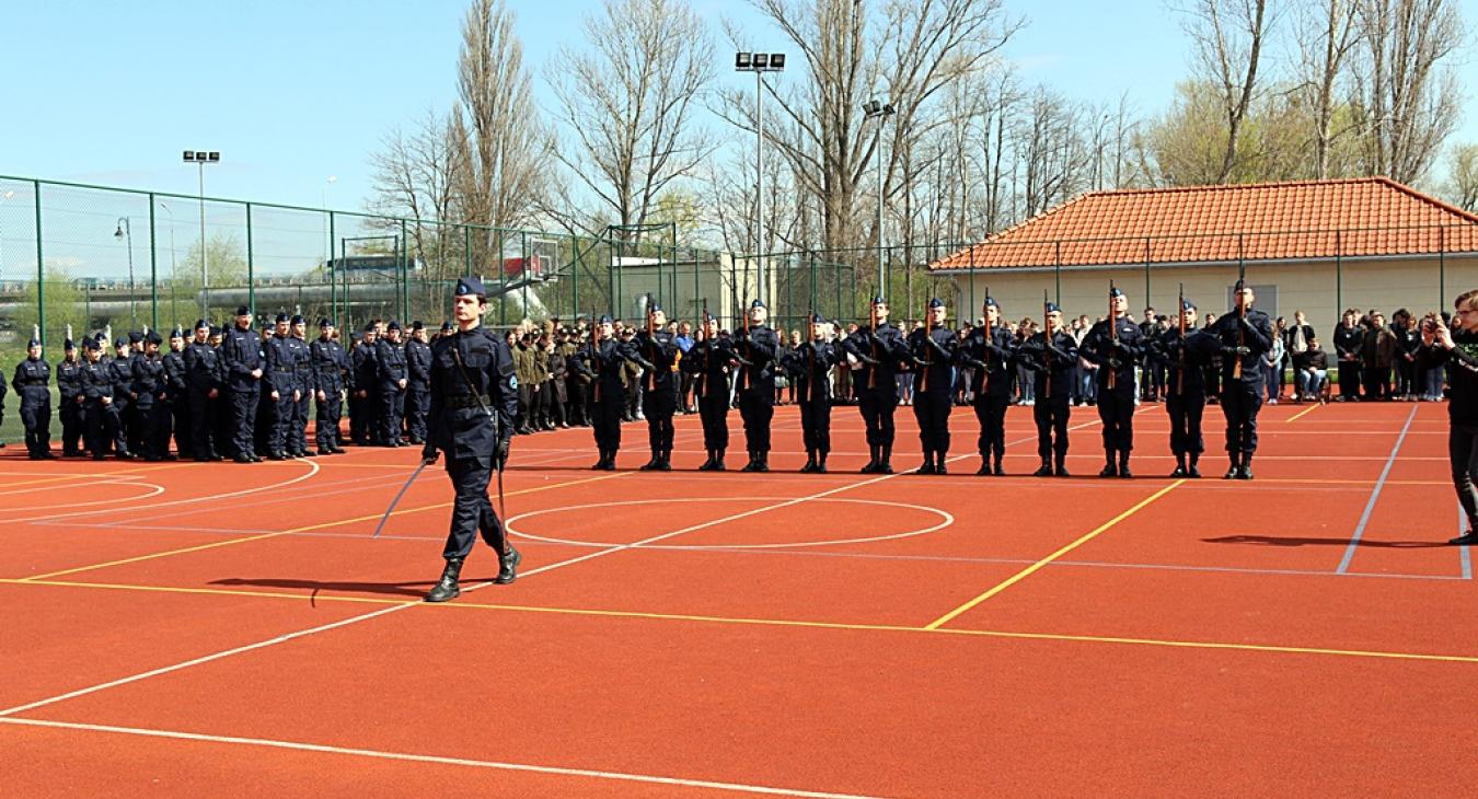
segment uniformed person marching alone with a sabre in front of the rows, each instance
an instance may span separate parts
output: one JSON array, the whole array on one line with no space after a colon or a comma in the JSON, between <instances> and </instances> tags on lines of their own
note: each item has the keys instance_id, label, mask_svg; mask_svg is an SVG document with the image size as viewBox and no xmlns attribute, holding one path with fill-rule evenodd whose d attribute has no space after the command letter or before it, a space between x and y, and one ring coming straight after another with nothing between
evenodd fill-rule
<instances>
[{"instance_id":1,"label":"uniformed person marching alone with a sabre in front of the rows","mask_svg":"<svg viewBox=\"0 0 1478 799\"><path fill-rule=\"evenodd\" d=\"M503 521L492 510L488 481L492 471L503 471L508 461L519 394L507 344L480 326L486 307L482 281L457 281L452 313L458 331L439 338L432 349L430 437L421 458L435 464L437 452L446 453L446 474L457 498L442 549L446 567L427 594L429 603L445 603L461 594L461 564L479 532L498 552L498 576L492 582L505 585L517 577L519 551L508 543Z\"/></svg>"}]
</instances>

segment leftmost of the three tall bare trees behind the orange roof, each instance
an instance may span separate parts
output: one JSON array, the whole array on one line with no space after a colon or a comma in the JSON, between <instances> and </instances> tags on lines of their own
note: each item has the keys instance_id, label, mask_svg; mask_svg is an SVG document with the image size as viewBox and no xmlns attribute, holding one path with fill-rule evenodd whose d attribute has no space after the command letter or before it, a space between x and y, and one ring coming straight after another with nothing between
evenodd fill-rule
<instances>
[{"instance_id":1,"label":"leftmost of the three tall bare trees behind the orange roof","mask_svg":"<svg viewBox=\"0 0 1478 799\"><path fill-rule=\"evenodd\" d=\"M1242 126L1258 90L1262 43L1270 28L1267 0L1196 0L1184 12L1194 68L1216 86L1225 115L1225 146L1216 176L1222 183L1237 167Z\"/></svg>"}]
</instances>

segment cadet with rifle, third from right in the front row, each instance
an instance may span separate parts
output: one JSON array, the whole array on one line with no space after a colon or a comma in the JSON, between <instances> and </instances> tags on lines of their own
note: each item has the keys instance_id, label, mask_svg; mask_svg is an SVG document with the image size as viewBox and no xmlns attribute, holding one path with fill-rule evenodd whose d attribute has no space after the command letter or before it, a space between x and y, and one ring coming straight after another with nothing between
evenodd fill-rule
<instances>
[{"instance_id":1,"label":"cadet with rifle, third from right in the front row","mask_svg":"<svg viewBox=\"0 0 1478 799\"><path fill-rule=\"evenodd\" d=\"M1134 477L1134 365L1142 334L1129 319L1129 300L1119 288L1108 289L1111 316L1094 325L1083 338L1083 360L1098 365L1098 418L1103 419L1104 468L1098 477ZM1117 462L1114 462L1117 458Z\"/></svg>"}]
</instances>

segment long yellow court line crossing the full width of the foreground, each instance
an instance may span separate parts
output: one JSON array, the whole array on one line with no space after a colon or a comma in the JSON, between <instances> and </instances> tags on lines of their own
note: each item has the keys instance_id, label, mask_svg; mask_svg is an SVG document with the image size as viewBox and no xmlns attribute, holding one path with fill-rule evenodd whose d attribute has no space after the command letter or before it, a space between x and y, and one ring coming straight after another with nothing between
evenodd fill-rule
<instances>
[{"instance_id":1,"label":"long yellow court line crossing the full width of the foreground","mask_svg":"<svg viewBox=\"0 0 1478 799\"><path fill-rule=\"evenodd\" d=\"M310 600L310 601L358 603L358 604L374 604L374 606L417 606L435 611L445 611L448 608L485 610L485 611L494 610L494 611L514 611L514 613L548 613L556 616L602 616L613 619L696 622L696 623L712 623L712 625L751 625L751 626L772 626L772 628L842 629L842 631L862 631L862 632L968 635L977 638L1007 638L1007 639L1021 639L1021 641L1073 641L1086 644L1125 644L1125 645L1196 648L1196 650L1262 651L1262 653L1277 653L1277 654L1323 654L1323 656L1341 656L1341 657L1375 657L1386 660L1478 663L1478 656L1472 654L1431 654L1431 653L1392 651L1392 650L1290 647L1280 644L1185 641L1175 638L1134 638L1122 635L1069 635L1057 632L1017 632L1004 629L961 629L961 628L927 628L927 626L916 628L906 625L808 622L800 619L752 619L752 617L732 617L732 616L699 616L699 614L684 614L684 613L649 613L637 610L600 610L600 608L579 608L579 607L544 607L544 606L516 606L516 604L466 603L466 601L429 604L420 600L380 600L374 597L344 597L336 594L290 594L282 591L239 591L229 588L180 588L180 586L160 586L160 585L126 585L126 583L62 582L62 580L38 582L38 580L18 580L18 579L3 579L3 577L0 577L0 585L46 585L52 588L143 591L155 594L208 594L222 597L262 597L270 600L294 600L294 601Z\"/></svg>"}]
</instances>

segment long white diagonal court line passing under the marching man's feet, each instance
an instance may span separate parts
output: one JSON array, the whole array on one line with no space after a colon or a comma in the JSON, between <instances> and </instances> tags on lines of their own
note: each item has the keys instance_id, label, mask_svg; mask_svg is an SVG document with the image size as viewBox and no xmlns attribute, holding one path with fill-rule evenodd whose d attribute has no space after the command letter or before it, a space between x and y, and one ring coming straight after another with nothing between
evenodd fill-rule
<instances>
[{"instance_id":1,"label":"long white diagonal court line passing under the marching man's feet","mask_svg":"<svg viewBox=\"0 0 1478 799\"><path fill-rule=\"evenodd\" d=\"M1095 424L1100 424L1100 421L1098 419L1086 421L1086 422L1069 427L1069 430L1077 430L1077 428L1091 427L1091 425L1095 425ZM1015 442L1007 442L1007 446L1011 446L1011 445L1015 445L1015 443L1021 443L1024 440L1029 440L1029 439L1018 439ZM959 459L959 458L974 458L974 455L959 455L958 458L952 458L952 459ZM627 474L630 474L630 473L627 473ZM842 484L842 486L826 489L823 492L811 493L811 495L807 495L807 496L800 496L800 498L795 498L795 499L791 499L791 501L786 501L786 502L780 502L780 504L776 504L776 505L767 505L764 508L755 508L755 510L743 511L743 512L739 512L739 514L730 514L727 517L715 518L712 521L704 521L704 523L699 523L699 524L683 527L681 530L674 530L671 533L662 533L662 535L656 535L656 536L652 536L652 538L647 538L647 539L641 539L641 541L636 541L636 542L631 542L631 543L625 543L625 545L621 545L621 546L612 546L609 549L600 549L600 551L590 552L590 554L585 554L585 555L576 555L576 557L569 558L569 560L562 560L562 561L551 563L548 566L541 566L538 569L531 569L529 572L526 572L523 575L523 577L532 577L532 576L541 575L544 572L553 572L556 569L563 569L566 566L573 566L576 563L584 563L587 560L594 560L594 558L610 555L610 554L615 554L615 552L624 552L624 551L631 549L634 546L641 546L641 545L646 545L646 543L656 543L658 541L667 541L670 538L680 536L683 533L690 533L690 532L695 532L695 530L702 530L705 527L712 527L715 524L724 524L724 523L735 521L735 520L739 520L739 518L746 518L746 517L751 517L751 515L761 514L764 511L779 510L779 508L785 508L785 507L789 507L789 505L797 505L800 502L807 502L810 499L820 499L823 496L831 496L834 493L840 493L840 492L844 492L847 489L856 489L856 487L862 487L862 486L871 486L873 483L881 483L884 480L891 480L891 479L900 477L903 474L907 474L907 473L879 474L878 477L872 477L872 479L863 480L860 483L847 483L847 484ZM477 591L479 588L486 588L489 585L494 585L494 583L489 580L489 582L482 582L482 583L470 585L466 589L463 589L463 592ZM106 690L106 688L114 688L114 687L118 687L118 685L127 685L130 682L137 682L140 679L148 679L151 676L158 676L158 675L164 675L164 673L170 673L170 672L177 672L180 669L188 669L191 666L198 666L201 663L210 663L213 660L220 660L223 657L231 657L234 654L241 654L241 653L247 653L247 651L253 651L253 650L260 650L260 648L266 648L266 647L270 647L270 645L275 645L275 644L284 644L287 641L293 641L296 638L303 638L303 637L307 637L307 635L313 635L316 632L328 632L331 629L349 626L349 625L353 625L353 623L358 623L358 622L367 622L370 619L375 619L378 616L384 616L384 614L389 614L389 613L396 613L396 611L405 610L408 607L417 607L420 604L421 604L420 601L401 603L401 604L396 604L396 606L390 606L390 607L383 607L383 608L378 608L378 610L372 610L370 613L362 613L359 616L350 616L349 619L340 619L338 622L333 622L333 623L328 623L328 625L319 625L316 628L310 628L310 629L304 629L304 631L288 632L288 634L284 634L284 635L278 635L275 638L269 638L266 641L257 641L254 644L244 644L241 647L234 647L234 648L229 648L229 650L222 650L222 651L217 651L217 653L213 653L213 654L205 654L205 656L195 657L195 659L191 659L191 660L185 660L185 662L180 662L180 663L174 663L174 665L170 665L170 666L161 666L158 669L149 669L146 672L139 672L136 675L123 676L123 678L118 678L118 679L111 679L108 682L101 682L98 685L89 685L86 688L78 688L75 691L68 691L65 694L58 694L58 696L47 697L47 699L38 699L38 700L30 702L27 704L18 704L15 707L7 707L4 710L0 710L0 719L4 719L4 716L12 716L15 713L22 713L25 710L34 710L37 707L44 707L47 704L55 704L58 702L65 702L68 699L77 699L77 697L81 697L81 696L93 694L93 693L98 693L98 691L102 691L102 690Z\"/></svg>"}]
</instances>

